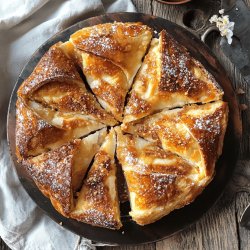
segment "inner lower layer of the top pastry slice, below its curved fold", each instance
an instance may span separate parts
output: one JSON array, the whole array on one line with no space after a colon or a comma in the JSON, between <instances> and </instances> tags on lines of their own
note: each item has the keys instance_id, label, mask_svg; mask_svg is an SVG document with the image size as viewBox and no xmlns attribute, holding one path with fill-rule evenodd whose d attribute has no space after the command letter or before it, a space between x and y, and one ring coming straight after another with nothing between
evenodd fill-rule
<instances>
[{"instance_id":1,"label":"inner lower layer of the top pastry slice, below its curved fold","mask_svg":"<svg viewBox=\"0 0 250 250\"><path fill-rule=\"evenodd\" d=\"M130 88L122 69L107 59L82 52L82 70L101 106L122 121L125 97Z\"/></svg>"}]
</instances>

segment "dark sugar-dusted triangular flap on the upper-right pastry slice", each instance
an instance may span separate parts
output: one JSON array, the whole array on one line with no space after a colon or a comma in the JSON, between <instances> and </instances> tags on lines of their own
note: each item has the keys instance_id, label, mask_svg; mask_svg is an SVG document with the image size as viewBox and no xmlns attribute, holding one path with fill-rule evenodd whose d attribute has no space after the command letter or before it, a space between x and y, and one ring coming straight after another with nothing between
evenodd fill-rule
<instances>
[{"instance_id":1,"label":"dark sugar-dusted triangular flap on the upper-right pastry slice","mask_svg":"<svg viewBox=\"0 0 250 250\"><path fill-rule=\"evenodd\" d=\"M160 43L161 95L178 92L194 98L193 102L202 103L221 99L223 91L213 76L165 30L161 32ZM201 93L204 94L202 100Z\"/></svg>"}]
</instances>

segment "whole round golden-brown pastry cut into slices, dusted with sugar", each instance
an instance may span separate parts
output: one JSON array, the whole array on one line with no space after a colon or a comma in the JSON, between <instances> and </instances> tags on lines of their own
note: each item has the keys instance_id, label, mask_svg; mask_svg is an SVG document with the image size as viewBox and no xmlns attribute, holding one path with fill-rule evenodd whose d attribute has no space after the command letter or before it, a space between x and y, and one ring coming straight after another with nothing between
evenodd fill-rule
<instances>
[{"instance_id":1,"label":"whole round golden-brown pastry cut into slices, dusted with sugar","mask_svg":"<svg viewBox=\"0 0 250 250\"><path fill-rule=\"evenodd\" d=\"M212 180L228 120L223 94L166 30L83 28L18 89L16 155L63 216L120 229L129 200L132 220L150 224Z\"/></svg>"}]
</instances>

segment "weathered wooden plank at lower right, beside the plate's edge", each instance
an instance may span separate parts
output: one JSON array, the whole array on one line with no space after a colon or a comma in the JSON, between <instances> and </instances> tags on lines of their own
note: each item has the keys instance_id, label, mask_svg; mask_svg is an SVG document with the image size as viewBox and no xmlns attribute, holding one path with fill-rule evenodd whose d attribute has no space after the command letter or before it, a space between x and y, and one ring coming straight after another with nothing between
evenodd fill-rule
<instances>
[{"instance_id":1,"label":"weathered wooden plank at lower right, beside the plate's edge","mask_svg":"<svg viewBox=\"0 0 250 250\"><path fill-rule=\"evenodd\" d=\"M156 249L238 249L234 205L222 197L196 224L156 243Z\"/></svg>"}]
</instances>

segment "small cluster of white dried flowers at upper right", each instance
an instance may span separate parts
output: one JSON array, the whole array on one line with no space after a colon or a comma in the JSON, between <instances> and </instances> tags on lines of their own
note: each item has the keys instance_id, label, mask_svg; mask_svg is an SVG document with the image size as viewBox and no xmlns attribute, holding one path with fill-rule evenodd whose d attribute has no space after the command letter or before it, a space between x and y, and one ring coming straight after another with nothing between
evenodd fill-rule
<instances>
[{"instance_id":1,"label":"small cluster of white dried flowers at upper right","mask_svg":"<svg viewBox=\"0 0 250 250\"><path fill-rule=\"evenodd\" d=\"M227 38L227 42L229 44L232 43L232 37L233 37L233 30L234 30L234 22L230 22L228 15L224 14L224 9L219 10L218 15L213 15L209 21L210 23L215 23L216 27L220 31L221 36L224 36Z\"/></svg>"}]
</instances>

